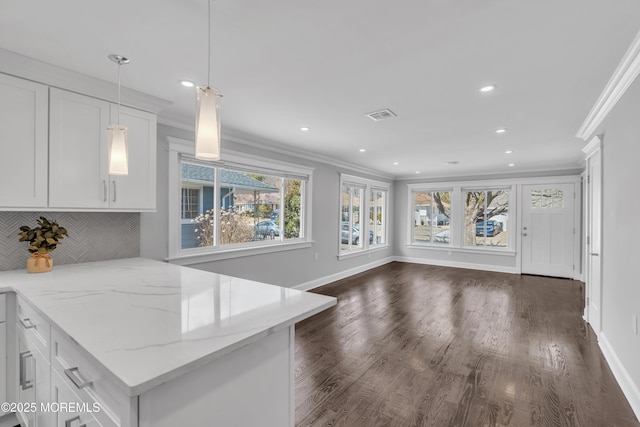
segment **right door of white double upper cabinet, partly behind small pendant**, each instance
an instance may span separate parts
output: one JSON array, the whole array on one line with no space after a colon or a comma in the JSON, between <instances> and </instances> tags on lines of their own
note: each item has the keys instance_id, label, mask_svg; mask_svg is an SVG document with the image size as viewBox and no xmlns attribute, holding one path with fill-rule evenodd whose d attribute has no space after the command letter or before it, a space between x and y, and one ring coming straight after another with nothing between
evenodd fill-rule
<instances>
[{"instance_id":1,"label":"right door of white double upper cabinet, partly behind small pendant","mask_svg":"<svg viewBox=\"0 0 640 427\"><path fill-rule=\"evenodd\" d=\"M118 122L118 108L113 104L111 122ZM110 177L110 207L155 210L156 115L121 106L120 124L127 127L129 175Z\"/></svg>"}]
</instances>

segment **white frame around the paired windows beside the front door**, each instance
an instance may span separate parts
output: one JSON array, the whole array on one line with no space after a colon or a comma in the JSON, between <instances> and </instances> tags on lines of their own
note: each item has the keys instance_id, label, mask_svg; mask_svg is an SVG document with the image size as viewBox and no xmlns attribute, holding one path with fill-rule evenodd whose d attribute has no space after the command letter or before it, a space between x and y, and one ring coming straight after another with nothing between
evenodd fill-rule
<instances>
[{"instance_id":1,"label":"white frame around the paired windows beside the front door","mask_svg":"<svg viewBox=\"0 0 640 427\"><path fill-rule=\"evenodd\" d=\"M424 182L407 184L407 236L406 247L412 249L429 249L447 252L487 253L515 256L517 253L516 237L512 230L516 229L517 218L517 185L513 182L501 180L461 181L461 182ZM464 192L465 191L493 191L505 190L509 192L509 222L507 246L465 246L464 245ZM449 244L413 241L413 215L415 192L451 191L451 217Z\"/></svg>"}]
</instances>

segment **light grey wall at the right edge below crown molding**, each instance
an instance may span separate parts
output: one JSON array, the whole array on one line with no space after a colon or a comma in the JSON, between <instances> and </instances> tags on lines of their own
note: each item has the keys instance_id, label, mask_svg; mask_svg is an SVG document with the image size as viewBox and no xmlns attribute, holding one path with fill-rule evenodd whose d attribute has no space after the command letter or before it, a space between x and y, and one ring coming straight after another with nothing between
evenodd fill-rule
<instances>
[{"instance_id":1,"label":"light grey wall at the right edge below crown molding","mask_svg":"<svg viewBox=\"0 0 640 427\"><path fill-rule=\"evenodd\" d=\"M619 369L616 378L640 416L640 335L632 328L632 316L640 316L638 79L607 117L602 139L602 334L614 353L609 364L614 372Z\"/></svg>"}]
</instances>

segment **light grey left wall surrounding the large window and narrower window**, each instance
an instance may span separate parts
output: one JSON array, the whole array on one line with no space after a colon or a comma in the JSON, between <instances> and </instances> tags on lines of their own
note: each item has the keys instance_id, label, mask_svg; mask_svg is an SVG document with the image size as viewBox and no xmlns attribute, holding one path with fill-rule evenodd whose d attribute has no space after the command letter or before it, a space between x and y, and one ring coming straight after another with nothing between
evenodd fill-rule
<instances>
[{"instance_id":1,"label":"light grey left wall surrounding the large window and narrower window","mask_svg":"<svg viewBox=\"0 0 640 427\"><path fill-rule=\"evenodd\" d=\"M168 256L166 232L169 227L167 136L193 140L193 133L191 132L163 125L158 127L158 211L141 215L140 234L142 241L141 255L159 260ZM343 260L338 260L337 257L338 230L340 229L340 173L391 182L389 179L327 163L261 150L224 139L222 144L223 156L226 148L254 156L264 156L265 159L280 160L314 168L312 189L313 244L306 249L198 263L191 265L192 267L280 286L308 288L329 283L355 272L364 271L391 259L393 254L392 245L370 255L364 254ZM393 198L393 194L391 197ZM390 205L392 206L392 204ZM393 212L390 212L389 221L389 224L393 224ZM389 241L393 242L393 229L390 229L389 232ZM317 261L315 260L316 253L318 254Z\"/></svg>"}]
</instances>

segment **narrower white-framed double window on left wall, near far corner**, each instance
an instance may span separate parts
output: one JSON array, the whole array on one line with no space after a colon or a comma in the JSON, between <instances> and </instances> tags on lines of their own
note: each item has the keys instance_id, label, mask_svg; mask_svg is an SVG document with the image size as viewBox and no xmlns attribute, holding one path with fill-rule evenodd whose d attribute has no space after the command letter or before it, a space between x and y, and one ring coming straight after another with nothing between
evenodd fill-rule
<instances>
[{"instance_id":1,"label":"narrower white-framed double window on left wall, near far corner","mask_svg":"<svg viewBox=\"0 0 640 427\"><path fill-rule=\"evenodd\" d=\"M340 255L387 245L389 185L342 175Z\"/></svg>"}]
</instances>

